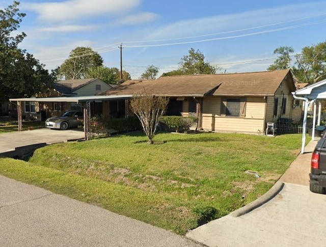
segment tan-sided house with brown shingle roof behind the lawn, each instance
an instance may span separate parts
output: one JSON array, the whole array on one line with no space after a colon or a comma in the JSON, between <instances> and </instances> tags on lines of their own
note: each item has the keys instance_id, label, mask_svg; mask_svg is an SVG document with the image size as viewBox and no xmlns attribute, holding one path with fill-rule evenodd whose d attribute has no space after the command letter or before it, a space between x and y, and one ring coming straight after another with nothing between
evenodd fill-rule
<instances>
[{"instance_id":1,"label":"tan-sided house with brown shingle roof behind the lawn","mask_svg":"<svg viewBox=\"0 0 326 247\"><path fill-rule=\"evenodd\" d=\"M167 115L197 115L198 127L214 132L257 133L267 122L302 116L301 102L291 92L290 70L160 77L128 80L99 95L134 95L146 92L170 98ZM126 116L128 102L108 101L103 114ZM113 114L112 114L113 113Z\"/></svg>"}]
</instances>

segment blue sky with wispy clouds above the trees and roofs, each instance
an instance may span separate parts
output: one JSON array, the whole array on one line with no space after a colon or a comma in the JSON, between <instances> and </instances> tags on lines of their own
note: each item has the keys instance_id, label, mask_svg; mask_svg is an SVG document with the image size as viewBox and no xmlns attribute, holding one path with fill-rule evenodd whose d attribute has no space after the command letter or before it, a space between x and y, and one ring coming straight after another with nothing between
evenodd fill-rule
<instances>
[{"instance_id":1,"label":"blue sky with wispy clouds above the trees and roofs","mask_svg":"<svg viewBox=\"0 0 326 247\"><path fill-rule=\"evenodd\" d=\"M0 8L12 1L0 0ZM326 41L326 1L307 0L28 0L20 44L48 70L78 46L91 47L106 67L138 79L146 68L158 76L178 69L194 48L221 73L265 71L273 51L295 52Z\"/></svg>"}]
</instances>

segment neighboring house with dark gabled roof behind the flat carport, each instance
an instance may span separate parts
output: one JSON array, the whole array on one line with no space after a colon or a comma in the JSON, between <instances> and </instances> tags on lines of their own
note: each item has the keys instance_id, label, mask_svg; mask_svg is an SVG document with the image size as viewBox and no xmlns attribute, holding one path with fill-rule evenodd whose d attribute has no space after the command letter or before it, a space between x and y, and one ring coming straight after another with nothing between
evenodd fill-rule
<instances>
[{"instance_id":1,"label":"neighboring house with dark gabled roof behind the flat carport","mask_svg":"<svg viewBox=\"0 0 326 247\"><path fill-rule=\"evenodd\" d=\"M112 85L108 85L99 78L88 78L88 79L75 79L75 80L64 80L58 81L53 84L53 89L47 94L37 95L40 97L58 97L58 96L93 96L98 94L98 92L113 88ZM47 118L49 116L62 115L65 111L71 109L78 109L75 103L67 102L35 102L31 98L30 102L22 102L22 115L23 118L35 119ZM92 104L93 113L96 109L101 109L102 102L94 102ZM17 111L13 110L12 115L16 115Z\"/></svg>"}]
</instances>

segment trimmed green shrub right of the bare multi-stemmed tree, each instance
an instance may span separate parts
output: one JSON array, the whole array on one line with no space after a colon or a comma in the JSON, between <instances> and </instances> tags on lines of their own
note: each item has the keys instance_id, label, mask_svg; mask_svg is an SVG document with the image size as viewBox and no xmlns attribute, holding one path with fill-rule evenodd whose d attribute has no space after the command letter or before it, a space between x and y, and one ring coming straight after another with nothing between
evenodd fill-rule
<instances>
[{"instance_id":1,"label":"trimmed green shrub right of the bare multi-stemmed tree","mask_svg":"<svg viewBox=\"0 0 326 247\"><path fill-rule=\"evenodd\" d=\"M159 121L170 131L187 131L197 122L197 117L162 116Z\"/></svg>"}]
</instances>

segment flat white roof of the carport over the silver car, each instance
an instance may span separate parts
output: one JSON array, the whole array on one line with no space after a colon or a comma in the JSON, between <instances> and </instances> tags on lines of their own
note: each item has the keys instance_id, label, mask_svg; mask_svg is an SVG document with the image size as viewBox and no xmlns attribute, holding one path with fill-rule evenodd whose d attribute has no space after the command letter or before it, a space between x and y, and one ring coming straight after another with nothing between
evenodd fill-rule
<instances>
[{"instance_id":1,"label":"flat white roof of the carport over the silver car","mask_svg":"<svg viewBox=\"0 0 326 247\"><path fill-rule=\"evenodd\" d=\"M9 99L13 101L35 101L35 102L88 102L88 101L105 101L105 100L123 100L129 99L132 95L93 95L93 96L78 96L78 97L47 97L47 98L17 98Z\"/></svg>"}]
</instances>

